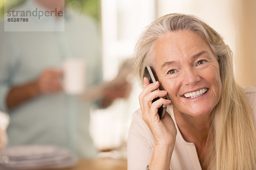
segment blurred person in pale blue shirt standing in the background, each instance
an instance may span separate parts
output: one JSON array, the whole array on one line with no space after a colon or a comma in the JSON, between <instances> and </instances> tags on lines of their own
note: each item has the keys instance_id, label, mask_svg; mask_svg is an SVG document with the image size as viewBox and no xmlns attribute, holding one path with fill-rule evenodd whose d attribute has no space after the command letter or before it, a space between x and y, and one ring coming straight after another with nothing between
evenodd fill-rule
<instances>
[{"instance_id":1,"label":"blurred person in pale blue shirt standing in the background","mask_svg":"<svg viewBox=\"0 0 256 170\"><path fill-rule=\"evenodd\" d=\"M61 10L61 3L63 0L27 0L16 10ZM97 151L88 130L89 109L92 104L107 107L114 99L126 97L129 84L123 81L114 88L108 86L100 99L84 102L79 95L62 91L60 67L70 55L83 58L87 89L102 81L96 22L66 10L64 32L4 32L3 24L0 23L0 110L10 116L8 145L55 144L70 147L81 157L95 156ZM58 27L58 17L52 25L41 20L40 26Z\"/></svg>"}]
</instances>

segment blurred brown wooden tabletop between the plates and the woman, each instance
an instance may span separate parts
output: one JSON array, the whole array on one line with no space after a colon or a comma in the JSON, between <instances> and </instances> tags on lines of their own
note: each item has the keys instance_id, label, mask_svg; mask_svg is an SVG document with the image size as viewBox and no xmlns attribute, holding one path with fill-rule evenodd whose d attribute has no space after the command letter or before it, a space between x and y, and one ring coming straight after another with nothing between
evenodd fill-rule
<instances>
[{"instance_id":1,"label":"blurred brown wooden tabletop between the plates and the woman","mask_svg":"<svg viewBox=\"0 0 256 170\"><path fill-rule=\"evenodd\" d=\"M75 167L61 170L127 170L127 160L112 158L82 159Z\"/></svg>"}]
</instances>

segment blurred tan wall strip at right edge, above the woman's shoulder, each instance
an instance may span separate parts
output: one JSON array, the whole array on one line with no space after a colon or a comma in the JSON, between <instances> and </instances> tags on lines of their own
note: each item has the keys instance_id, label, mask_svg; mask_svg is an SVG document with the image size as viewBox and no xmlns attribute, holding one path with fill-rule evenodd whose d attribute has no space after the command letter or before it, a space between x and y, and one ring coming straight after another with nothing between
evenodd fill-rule
<instances>
[{"instance_id":1,"label":"blurred tan wall strip at right edge, above the woman's shoulder","mask_svg":"<svg viewBox=\"0 0 256 170\"><path fill-rule=\"evenodd\" d=\"M236 15L239 19L236 77L241 86L256 87L256 0L241 0Z\"/></svg>"}]
</instances>

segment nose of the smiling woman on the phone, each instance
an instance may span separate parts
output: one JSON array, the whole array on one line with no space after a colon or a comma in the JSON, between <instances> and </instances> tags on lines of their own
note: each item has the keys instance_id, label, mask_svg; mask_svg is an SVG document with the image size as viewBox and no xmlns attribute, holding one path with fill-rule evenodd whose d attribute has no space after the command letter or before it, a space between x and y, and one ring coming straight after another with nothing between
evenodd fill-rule
<instances>
[{"instance_id":1,"label":"nose of the smiling woman on the phone","mask_svg":"<svg viewBox=\"0 0 256 170\"><path fill-rule=\"evenodd\" d=\"M196 85L201 80L198 71L193 68L184 70L183 82L185 85Z\"/></svg>"}]
</instances>

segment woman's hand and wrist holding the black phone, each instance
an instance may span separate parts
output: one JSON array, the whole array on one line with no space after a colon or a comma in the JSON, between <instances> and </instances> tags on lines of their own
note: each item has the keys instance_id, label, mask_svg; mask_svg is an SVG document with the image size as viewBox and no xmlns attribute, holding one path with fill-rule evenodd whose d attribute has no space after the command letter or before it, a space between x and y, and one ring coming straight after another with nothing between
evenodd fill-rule
<instances>
[{"instance_id":1,"label":"woman's hand and wrist holding the black phone","mask_svg":"<svg viewBox=\"0 0 256 170\"><path fill-rule=\"evenodd\" d=\"M154 136L155 146L170 146L173 148L177 130L172 117L169 113L166 113L165 118L160 120L157 113L161 105L169 105L171 101L158 99L152 103L152 100L156 97L164 97L167 94L167 91L156 90L158 87L158 81L150 84L148 78L144 77L143 91L139 96L142 118Z\"/></svg>"}]
</instances>

